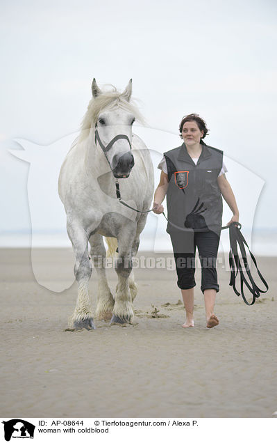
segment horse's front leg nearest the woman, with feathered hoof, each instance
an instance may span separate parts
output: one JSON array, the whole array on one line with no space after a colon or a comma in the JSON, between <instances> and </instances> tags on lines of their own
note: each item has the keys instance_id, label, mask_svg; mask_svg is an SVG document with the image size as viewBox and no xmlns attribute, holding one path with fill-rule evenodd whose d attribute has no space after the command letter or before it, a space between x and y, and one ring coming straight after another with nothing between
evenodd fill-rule
<instances>
[{"instance_id":1,"label":"horse's front leg nearest the woman, with feathered hoof","mask_svg":"<svg viewBox=\"0 0 277 443\"><path fill-rule=\"evenodd\" d=\"M128 232L128 230L126 229ZM115 262L115 270L117 272L118 283L115 293L115 306L112 310L111 323L131 323L133 320L133 304L131 292L128 284L129 275L131 274L133 263L131 248L133 238L130 233L125 232L118 237L118 258Z\"/></svg>"}]
</instances>

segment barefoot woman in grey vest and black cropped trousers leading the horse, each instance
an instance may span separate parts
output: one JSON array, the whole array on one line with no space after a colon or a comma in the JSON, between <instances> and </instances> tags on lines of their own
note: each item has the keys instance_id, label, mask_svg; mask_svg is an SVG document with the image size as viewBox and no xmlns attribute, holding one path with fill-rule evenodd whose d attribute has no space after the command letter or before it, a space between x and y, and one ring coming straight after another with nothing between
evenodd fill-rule
<instances>
[{"instance_id":1,"label":"barefoot woman in grey vest and black cropped trousers leading the horse","mask_svg":"<svg viewBox=\"0 0 277 443\"><path fill-rule=\"evenodd\" d=\"M179 126L182 146L164 154L159 169L160 183L154 194L153 212L161 214L167 194L168 224L171 237L177 285L181 288L186 311L183 327L194 327L195 251L201 262L201 290L205 300L207 327L219 324L214 313L217 283L217 251L222 223L222 198L233 217L239 221L239 210L230 184L226 180L223 152L207 146L205 121L198 114L185 116Z\"/></svg>"}]
</instances>

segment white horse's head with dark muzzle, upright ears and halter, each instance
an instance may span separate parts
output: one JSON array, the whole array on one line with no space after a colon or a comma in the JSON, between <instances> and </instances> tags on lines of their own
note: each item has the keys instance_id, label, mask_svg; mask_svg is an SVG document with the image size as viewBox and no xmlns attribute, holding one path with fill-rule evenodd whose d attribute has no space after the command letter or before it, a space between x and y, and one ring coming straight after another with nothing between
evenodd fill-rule
<instances>
[{"instance_id":1,"label":"white horse's head with dark muzzle, upright ears and halter","mask_svg":"<svg viewBox=\"0 0 277 443\"><path fill-rule=\"evenodd\" d=\"M101 146L116 178L127 178L135 164L131 151L132 125L135 121L135 114L132 112L131 105L128 105L131 93L132 80L129 81L123 93L117 94L117 100L111 107L101 109L95 125L95 142ZM94 99L101 100L102 94L93 79L92 95Z\"/></svg>"}]
</instances>

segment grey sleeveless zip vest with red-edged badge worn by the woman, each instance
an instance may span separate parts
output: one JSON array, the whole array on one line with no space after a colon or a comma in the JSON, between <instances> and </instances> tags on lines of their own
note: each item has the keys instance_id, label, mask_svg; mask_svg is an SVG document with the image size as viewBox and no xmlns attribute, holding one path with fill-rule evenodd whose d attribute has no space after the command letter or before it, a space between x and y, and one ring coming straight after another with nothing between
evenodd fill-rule
<instances>
[{"instance_id":1,"label":"grey sleeveless zip vest with red-edged badge worn by the woman","mask_svg":"<svg viewBox=\"0 0 277 443\"><path fill-rule=\"evenodd\" d=\"M167 162L167 233L181 231L220 231L222 198L217 177L223 151L202 140L197 164L187 153L185 143L164 153Z\"/></svg>"}]
</instances>

